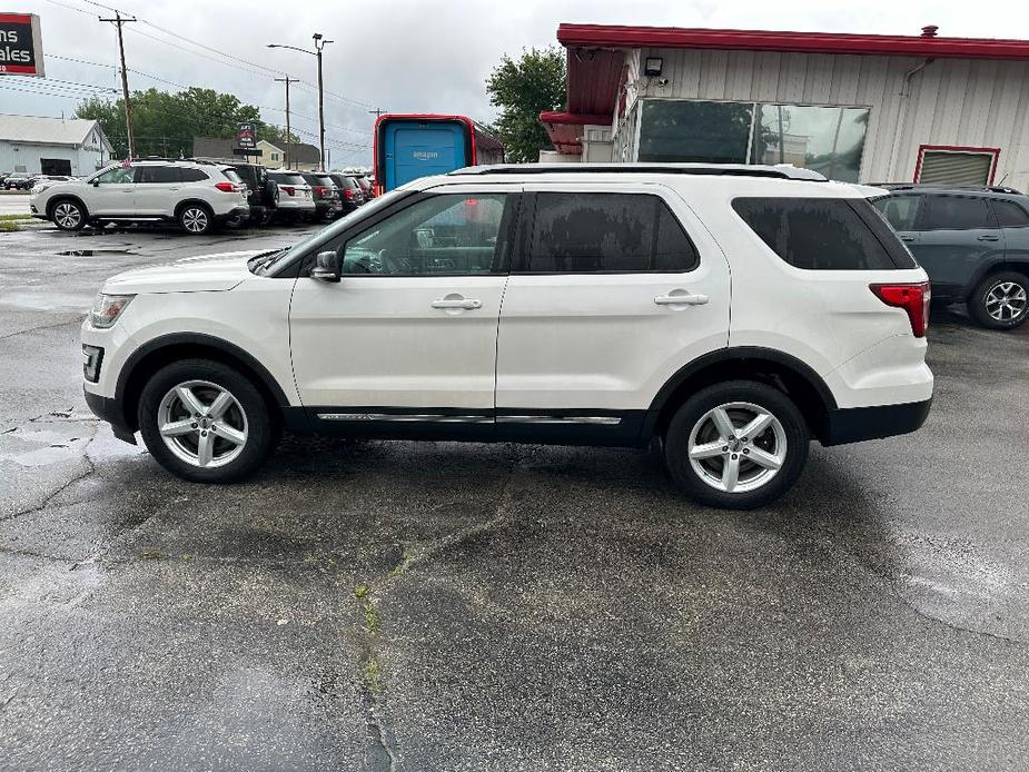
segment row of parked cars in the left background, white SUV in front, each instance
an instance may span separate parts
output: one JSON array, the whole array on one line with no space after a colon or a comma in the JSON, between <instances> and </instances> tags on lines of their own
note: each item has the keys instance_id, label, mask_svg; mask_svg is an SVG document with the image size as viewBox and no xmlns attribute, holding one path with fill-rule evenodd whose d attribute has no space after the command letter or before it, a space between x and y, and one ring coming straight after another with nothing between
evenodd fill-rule
<instances>
[{"instance_id":1,"label":"row of parked cars in the left background, white SUV in front","mask_svg":"<svg viewBox=\"0 0 1029 772\"><path fill-rule=\"evenodd\" d=\"M330 221L364 202L362 184L345 175L148 158L81 180L40 180L29 208L61 230L166 221L206 234L225 224Z\"/></svg>"}]
</instances>

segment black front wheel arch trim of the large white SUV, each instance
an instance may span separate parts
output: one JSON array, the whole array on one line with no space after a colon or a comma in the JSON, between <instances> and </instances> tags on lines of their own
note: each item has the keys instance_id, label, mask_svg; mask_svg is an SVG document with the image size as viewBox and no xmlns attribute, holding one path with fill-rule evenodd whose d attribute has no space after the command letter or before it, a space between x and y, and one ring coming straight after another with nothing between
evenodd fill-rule
<instances>
[{"instance_id":1,"label":"black front wheel arch trim of the large white SUV","mask_svg":"<svg viewBox=\"0 0 1029 772\"><path fill-rule=\"evenodd\" d=\"M139 428L139 397L147 380L165 365L179 359L195 358L220 362L249 377L276 419L281 417L281 408L289 407L289 398L275 377L239 346L212 335L176 333L144 344L129 356L121 368L115 387L115 399L121 406L129 428ZM280 409L275 410L275 407Z\"/></svg>"}]
</instances>

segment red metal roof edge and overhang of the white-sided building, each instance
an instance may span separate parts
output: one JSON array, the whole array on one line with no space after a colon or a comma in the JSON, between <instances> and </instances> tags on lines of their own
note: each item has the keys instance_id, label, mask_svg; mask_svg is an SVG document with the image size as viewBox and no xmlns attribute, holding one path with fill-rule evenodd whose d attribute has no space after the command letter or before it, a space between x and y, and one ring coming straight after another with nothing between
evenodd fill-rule
<instances>
[{"instance_id":1,"label":"red metal roof edge and overhang of the white-sided building","mask_svg":"<svg viewBox=\"0 0 1029 772\"><path fill-rule=\"evenodd\" d=\"M934 32L934 30L933 30ZM1029 40L940 38L934 36L854 34L850 32L785 32L716 30L682 27L561 24L557 42L568 49L568 113L541 113L554 147L582 152L578 138L590 122L607 123L622 82L623 50L631 48L696 48L791 53L851 53L961 59L1029 60ZM550 118L545 117L550 116ZM577 118L606 117L577 122Z\"/></svg>"}]
</instances>

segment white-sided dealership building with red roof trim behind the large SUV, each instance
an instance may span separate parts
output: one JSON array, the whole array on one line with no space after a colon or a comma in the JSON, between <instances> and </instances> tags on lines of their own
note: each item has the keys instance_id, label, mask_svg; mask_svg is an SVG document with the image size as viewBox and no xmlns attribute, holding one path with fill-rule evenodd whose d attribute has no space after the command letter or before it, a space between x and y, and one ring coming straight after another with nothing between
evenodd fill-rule
<instances>
[{"instance_id":1,"label":"white-sided dealership building with red roof trim behind the large SUV","mask_svg":"<svg viewBox=\"0 0 1029 772\"><path fill-rule=\"evenodd\" d=\"M1029 189L1029 41L561 24L544 160L793 164Z\"/></svg>"}]
</instances>

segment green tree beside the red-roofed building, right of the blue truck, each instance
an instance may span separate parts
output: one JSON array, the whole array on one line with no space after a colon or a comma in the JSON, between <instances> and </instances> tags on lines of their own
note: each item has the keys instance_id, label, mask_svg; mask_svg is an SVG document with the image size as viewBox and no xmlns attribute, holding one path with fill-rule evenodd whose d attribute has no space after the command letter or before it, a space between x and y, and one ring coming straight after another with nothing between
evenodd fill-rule
<instances>
[{"instance_id":1,"label":"green tree beside the red-roofed building, right of the blue truck","mask_svg":"<svg viewBox=\"0 0 1029 772\"><path fill-rule=\"evenodd\" d=\"M489 103L501 108L493 128L504 141L507 160L540 159L551 147L540 113L560 110L565 98L565 60L560 48L528 49L514 61L506 53L486 80Z\"/></svg>"}]
</instances>

